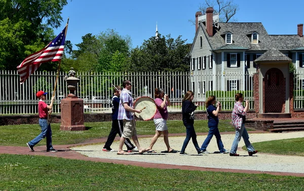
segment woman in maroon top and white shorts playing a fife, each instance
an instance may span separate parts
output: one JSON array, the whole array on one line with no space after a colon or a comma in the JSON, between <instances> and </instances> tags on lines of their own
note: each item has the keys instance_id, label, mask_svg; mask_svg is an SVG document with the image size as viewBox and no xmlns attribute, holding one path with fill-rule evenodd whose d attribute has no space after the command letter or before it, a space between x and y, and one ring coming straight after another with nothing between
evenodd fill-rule
<instances>
[{"instance_id":1,"label":"woman in maroon top and white shorts playing a fife","mask_svg":"<svg viewBox=\"0 0 304 191\"><path fill-rule=\"evenodd\" d=\"M155 89L155 104L156 104L156 114L154 116L154 124L155 124L155 136L151 140L151 144L148 147L149 153L155 153L156 151L152 149L154 144L156 143L157 139L164 134L164 142L167 146L166 152L178 152L172 149L169 145L169 138L168 138L168 126L167 126L167 119L168 119L168 109L167 106L171 106L171 102L169 101L168 94L165 94L162 88Z\"/></svg>"}]
</instances>

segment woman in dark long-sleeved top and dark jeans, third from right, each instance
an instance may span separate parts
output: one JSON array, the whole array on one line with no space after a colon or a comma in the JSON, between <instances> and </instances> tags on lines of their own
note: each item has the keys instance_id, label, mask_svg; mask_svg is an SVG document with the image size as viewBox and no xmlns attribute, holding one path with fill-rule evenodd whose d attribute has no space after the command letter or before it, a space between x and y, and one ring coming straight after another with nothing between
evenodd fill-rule
<instances>
[{"instance_id":1,"label":"woman in dark long-sleeved top and dark jeans, third from right","mask_svg":"<svg viewBox=\"0 0 304 191\"><path fill-rule=\"evenodd\" d=\"M198 154L201 154L203 151L200 149L198 141L197 141L197 135L194 130L194 111L199 106L198 104L194 104L192 101L194 99L194 93L193 91L187 91L184 98L182 99L182 122L186 127L186 138L184 140L184 143L182 145L180 155L186 155L185 149L192 138L192 142L198 152Z\"/></svg>"}]
</instances>

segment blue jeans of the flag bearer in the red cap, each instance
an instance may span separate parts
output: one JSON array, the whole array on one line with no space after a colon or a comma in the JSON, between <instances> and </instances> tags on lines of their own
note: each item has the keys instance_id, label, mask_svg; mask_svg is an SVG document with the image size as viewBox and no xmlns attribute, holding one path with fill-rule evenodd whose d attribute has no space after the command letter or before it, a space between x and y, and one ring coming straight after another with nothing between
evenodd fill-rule
<instances>
[{"instance_id":1,"label":"blue jeans of the flag bearer in the red cap","mask_svg":"<svg viewBox=\"0 0 304 191\"><path fill-rule=\"evenodd\" d=\"M53 149L51 124L48 124L47 119L39 119L39 125L41 126L41 134L39 134L30 142L28 142L28 144L31 146L35 146L43 138L47 137L47 150Z\"/></svg>"}]
</instances>

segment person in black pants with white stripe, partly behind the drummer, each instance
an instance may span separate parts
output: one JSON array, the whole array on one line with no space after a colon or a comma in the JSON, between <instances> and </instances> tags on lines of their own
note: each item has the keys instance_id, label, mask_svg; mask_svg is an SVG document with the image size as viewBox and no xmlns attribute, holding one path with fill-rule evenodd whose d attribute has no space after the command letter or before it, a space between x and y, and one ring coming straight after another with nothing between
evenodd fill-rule
<instances>
[{"instance_id":1,"label":"person in black pants with white stripe, partly behind the drummer","mask_svg":"<svg viewBox=\"0 0 304 191\"><path fill-rule=\"evenodd\" d=\"M121 104L120 102L120 92L121 92L121 87L120 86L115 86L113 89L114 95L111 98L111 105L112 105L112 129L109 133L109 136L104 144L104 147L102 148L103 151L115 151L111 149L111 144L113 143L115 137L117 134L119 136L122 136L123 133L123 120L118 119L118 112L119 112L119 105ZM136 149L136 147L131 143L129 139L125 140L125 145L127 146L128 152L131 152L132 150Z\"/></svg>"}]
</instances>

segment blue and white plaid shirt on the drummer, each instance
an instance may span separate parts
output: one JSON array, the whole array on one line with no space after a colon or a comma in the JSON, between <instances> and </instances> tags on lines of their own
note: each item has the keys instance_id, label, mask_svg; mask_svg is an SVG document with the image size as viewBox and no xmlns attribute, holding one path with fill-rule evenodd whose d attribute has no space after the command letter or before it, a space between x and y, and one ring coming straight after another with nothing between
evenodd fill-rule
<instances>
[{"instance_id":1,"label":"blue and white plaid shirt on the drummer","mask_svg":"<svg viewBox=\"0 0 304 191\"><path fill-rule=\"evenodd\" d=\"M131 92L127 89L123 89L120 96L120 104L119 104L119 111L118 111L118 119L127 119L133 120L133 114L130 111L125 110L123 103L128 103L128 106L131 108L133 107L133 98L131 96Z\"/></svg>"}]
</instances>

